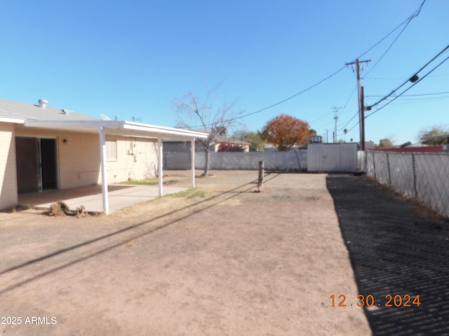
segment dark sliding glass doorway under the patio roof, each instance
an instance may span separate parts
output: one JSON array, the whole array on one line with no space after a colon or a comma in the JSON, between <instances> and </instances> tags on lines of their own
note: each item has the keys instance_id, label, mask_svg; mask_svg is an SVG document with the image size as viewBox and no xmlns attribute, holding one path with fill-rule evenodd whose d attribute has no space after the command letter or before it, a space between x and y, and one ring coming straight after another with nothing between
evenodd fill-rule
<instances>
[{"instance_id":1,"label":"dark sliding glass doorway under the patio roof","mask_svg":"<svg viewBox=\"0 0 449 336\"><path fill-rule=\"evenodd\" d=\"M56 139L15 138L18 193L58 189Z\"/></svg>"}]
</instances>

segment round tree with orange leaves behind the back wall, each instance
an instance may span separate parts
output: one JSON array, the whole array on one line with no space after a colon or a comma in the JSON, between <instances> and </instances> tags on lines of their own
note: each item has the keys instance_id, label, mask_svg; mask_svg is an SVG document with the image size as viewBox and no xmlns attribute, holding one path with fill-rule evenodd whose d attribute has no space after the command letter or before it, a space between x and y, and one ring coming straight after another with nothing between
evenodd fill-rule
<instances>
[{"instance_id":1,"label":"round tree with orange leaves behind the back wall","mask_svg":"<svg viewBox=\"0 0 449 336\"><path fill-rule=\"evenodd\" d=\"M286 152L309 140L309 124L295 117L281 114L269 120L259 134L269 144L276 146L278 151Z\"/></svg>"}]
</instances>

